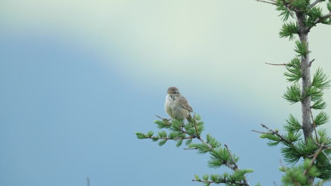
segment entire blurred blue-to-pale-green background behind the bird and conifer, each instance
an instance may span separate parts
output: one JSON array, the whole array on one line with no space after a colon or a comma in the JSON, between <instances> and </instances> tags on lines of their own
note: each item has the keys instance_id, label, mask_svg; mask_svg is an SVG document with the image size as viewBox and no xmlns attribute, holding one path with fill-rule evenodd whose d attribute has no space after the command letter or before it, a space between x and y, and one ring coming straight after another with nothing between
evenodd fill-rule
<instances>
[{"instance_id":1,"label":"entire blurred blue-to-pale-green background behind the bird and conifer","mask_svg":"<svg viewBox=\"0 0 331 186\"><path fill-rule=\"evenodd\" d=\"M264 64L295 55L277 15L254 0L0 0L0 185L200 186L194 174L230 172L136 139L157 131L169 86L254 169L252 185L280 185L279 148L251 132L301 118L281 97L284 67ZM313 70L327 74L330 33L309 36Z\"/></svg>"}]
</instances>

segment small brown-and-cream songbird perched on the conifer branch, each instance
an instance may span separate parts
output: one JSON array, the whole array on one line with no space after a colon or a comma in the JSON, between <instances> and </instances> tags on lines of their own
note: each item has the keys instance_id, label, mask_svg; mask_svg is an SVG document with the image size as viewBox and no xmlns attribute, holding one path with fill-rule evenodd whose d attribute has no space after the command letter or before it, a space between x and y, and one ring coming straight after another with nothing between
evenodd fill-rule
<instances>
[{"instance_id":1,"label":"small brown-and-cream songbird perched on the conifer branch","mask_svg":"<svg viewBox=\"0 0 331 186\"><path fill-rule=\"evenodd\" d=\"M165 112L172 118L191 120L193 109L176 87L169 87L165 97Z\"/></svg>"}]
</instances>

